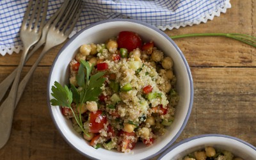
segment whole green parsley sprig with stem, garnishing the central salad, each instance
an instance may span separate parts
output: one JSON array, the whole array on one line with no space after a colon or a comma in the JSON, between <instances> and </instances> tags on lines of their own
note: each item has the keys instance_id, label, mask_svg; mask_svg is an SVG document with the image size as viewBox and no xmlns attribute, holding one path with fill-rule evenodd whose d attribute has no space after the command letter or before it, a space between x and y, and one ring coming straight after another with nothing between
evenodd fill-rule
<instances>
[{"instance_id":1,"label":"whole green parsley sprig with stem, garnishing the central salad","mask_svg":"<svg viewBox=\"0 0 256 160\"><path fill-rule=\"evenodd\" d=\"M54 82L52 86L52 97L51 99L52 106L65 106L70 108L74 118L76 119L77 124L84 132L83 122L81 117L81 106L87 101L96 101L98 100L99 94L102 92L101 86L105 81L104 76L105 72L97 72L92 76L93 66L88 63L88 61L81 60L79 69L77 71L76 81L79 88L76 88L73 84L70 84L70 88L67 85L61 86L57 81ZM76 109L79 111L78 115L74 112L74 109L71 107L72 102L76 103Z\"/></svg>"}]
</instances>

